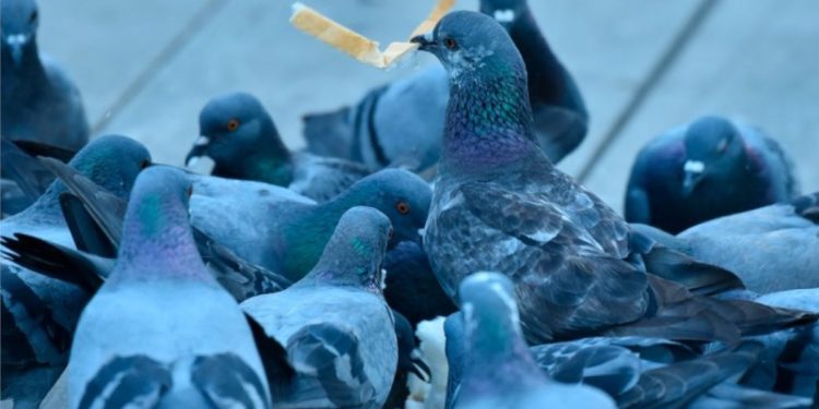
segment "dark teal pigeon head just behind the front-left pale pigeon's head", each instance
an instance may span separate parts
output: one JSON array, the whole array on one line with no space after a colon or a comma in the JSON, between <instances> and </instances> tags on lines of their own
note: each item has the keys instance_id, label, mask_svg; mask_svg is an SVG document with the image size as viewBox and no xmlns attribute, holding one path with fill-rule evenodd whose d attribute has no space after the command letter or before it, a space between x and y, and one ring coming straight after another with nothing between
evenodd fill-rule
<instances>
[{"instance_id":1,"label":"dark teal pigeon head just behind the front-left pale pigeon's head","mask_svg":"<svg viewBox=\"0 0 819 409\"><path fill-rule=\"evenodd\" d=\"M124 199L136 176L151 165L151 154L130 137L105 135L92 140L69 165L94 183Z\"/></svg>"}]
</instances>

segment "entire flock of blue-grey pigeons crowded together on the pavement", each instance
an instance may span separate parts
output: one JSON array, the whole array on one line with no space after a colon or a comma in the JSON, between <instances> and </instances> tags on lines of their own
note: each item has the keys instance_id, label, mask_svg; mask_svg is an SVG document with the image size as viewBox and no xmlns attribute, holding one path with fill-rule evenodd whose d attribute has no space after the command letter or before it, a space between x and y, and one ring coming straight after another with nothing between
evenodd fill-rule
<instances>
[{"instance_id":1,"label":"entire flock of blue-grey pigeons crowded together on the pavement","mask_svg":"<svg viewBox=\"0 0 819 409\"><path fill-rule=\"evenodd\" d=\"M307 152L214 98L210 176L88 142L37 25L2 0L14 407L817 405L819 193L703 117L639 153L621 217L555 167L589 113L525 0L447 14L412 39L440 67L306 117Z\"/></svg>"}]
</instances>

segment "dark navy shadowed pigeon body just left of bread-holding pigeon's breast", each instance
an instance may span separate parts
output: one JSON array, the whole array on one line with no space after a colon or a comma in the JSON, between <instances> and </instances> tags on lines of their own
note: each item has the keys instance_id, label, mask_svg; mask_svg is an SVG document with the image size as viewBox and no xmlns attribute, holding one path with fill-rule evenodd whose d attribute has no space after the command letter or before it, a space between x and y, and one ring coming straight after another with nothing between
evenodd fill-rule
<instances>
[{"instance_id":1,"label":"dark navy shadowed pigeon body just left of bread-holding pigeon's breast","mask_svg":"<svg viewBox=\"0 0 819 409\"><path fill-rule=\"evenodd\" d=\"M413 328L422 321L447 316L455 304L438 284L427 253L414 241L402 241L387 252L383 268L384 299L406 317Z\"/></svg>"}]
</instances>

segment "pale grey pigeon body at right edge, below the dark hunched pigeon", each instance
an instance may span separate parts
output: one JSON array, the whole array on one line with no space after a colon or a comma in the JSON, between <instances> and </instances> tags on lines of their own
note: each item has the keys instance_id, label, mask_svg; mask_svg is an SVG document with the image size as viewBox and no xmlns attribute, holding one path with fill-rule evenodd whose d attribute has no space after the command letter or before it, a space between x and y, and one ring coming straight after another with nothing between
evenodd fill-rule
<instances>
[{"instance_id":1,"label":"pale grey pigeon body at right edge, below the dark hunched pigeon","mask_svg":"<svg viewBox=\"0 0 819 409\"><path fill-rule=\"evenodd\" d=\"M632 228L736 273L757 293L819 287L819 192L704 221L676 237L651 226Z\"/></svg>"}]
</instances>

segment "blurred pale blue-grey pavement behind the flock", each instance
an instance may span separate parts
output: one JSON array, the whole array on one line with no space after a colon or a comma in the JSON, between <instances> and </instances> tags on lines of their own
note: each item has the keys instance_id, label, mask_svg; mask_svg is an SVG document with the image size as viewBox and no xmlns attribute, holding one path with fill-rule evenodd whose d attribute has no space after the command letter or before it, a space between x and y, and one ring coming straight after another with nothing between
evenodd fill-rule
<instances>
[{"instance_id":1,"label":"blurred pale blue-grey pavement behind the flock","mask_svg":"<svg viewBox=\"0 0 819 409\"><path fill-rule=\"evenodd\" d=\"M382 45L405 36L434 0L305 0ZM759 125L793 156L803 191L819 190L819 1L530 0L572 72L591 131L560 167L616 209L637 152L700 115ZM145 143L182 165L199 110L232 91L258 96L285 142L301 116L436 63L389 72L293 28L285 0L39 0L40 50L76 81L93 134ZM459 0L477 10L477 0Z\"/></svg>"}]
</instances>

